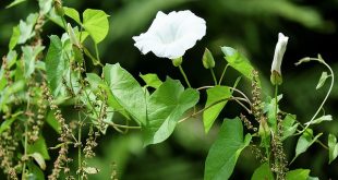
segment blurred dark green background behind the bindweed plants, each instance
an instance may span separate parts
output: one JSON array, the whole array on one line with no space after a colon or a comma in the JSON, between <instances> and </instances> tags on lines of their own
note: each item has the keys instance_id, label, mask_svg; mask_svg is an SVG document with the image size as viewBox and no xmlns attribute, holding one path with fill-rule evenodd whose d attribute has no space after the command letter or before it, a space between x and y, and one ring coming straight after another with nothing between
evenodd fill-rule
<instances>
[{"instance_id":1,"label":"blurred dark green background behind the bindweed plants","mask_svg":"<svg viewBox=\"0 0 338 180\"><path fill-rule=\"evenodd\" d=\"M4 9L10 2L1 1L1 57L8 51L12 27L28 13L37 11L37 2L34 0ZM323 67L315 63L294 67L294 62L303 57L316 57L321 53L334 71L338 72L337 0L65 0L63 4L80 12L88 8L101 9L110 15L108 37L99 44L102 63L119 62L135 76L140 73L157 73L161 80L167 75L183 79L178 69L171 65L170 60L159 59L153 53L141 55L133 46L132 36L146 32L157 11L168 13L189 9L205 19L206 36L186 51L182 64L193 87L213 83L209 71L202 65L204 48L207 47L214 53L216 74L219 76L225 67L219 47L231 46L243 52L259 70L261 77L265 79L263 82L266 82L263 84L264 94L271 95L271 86L268 83L270 63L277 34L282 32L289 36L289 44L282 62L283 84L280 92L283 98L280 108L298 115L301 122L306 122L313 116L328 86L326 84L324 88L315 89L321 73L325 70ZM61 33L63 32L60 27L48 23L43 33L44 44L49 44L48 35ZM97 73L100 71L95 67L88 69ZM234 70L229 70L225 77L226 84L231 85L238 75ZM251 91L250 84L245 82L241 83L241 88L248 93ZM202 99L205 97L202 96ZM326 113L331 113L334 121L322 123L315 129L316 133L324 131L338 135L337 99L336 82L325 106ZM240 111L236 104L228 104L221 117L232 118ZM45 132L48 131L46 128ZM101 173L89 178L108 179L111 170L116 169L119 179L126 180L203 179L204 160L217 132L216 125L205 134L201 118L197 118L179 124L173 135L165 143L143 148L138 132L122 135L109 130L106 136L99 139L97 156L90 161L90 165L101 169ZM47 135L46 139L53 140L48 142L51 146L57 134L45 133L45 136ZM321 140L327 142L327 135L323 135ZM294 155L295 143L297 140L287 141L286 151L289 159ZM327 161L327 152L315 144L290 168L309 168L312 170L311 175L319 179L338 179L338 160L330 166ZM51 167L52 161L49 161L48 166ZM238 160L232 179L250 179L257 166L251 151L245 149Z\"/></svg>"}]
</instances>

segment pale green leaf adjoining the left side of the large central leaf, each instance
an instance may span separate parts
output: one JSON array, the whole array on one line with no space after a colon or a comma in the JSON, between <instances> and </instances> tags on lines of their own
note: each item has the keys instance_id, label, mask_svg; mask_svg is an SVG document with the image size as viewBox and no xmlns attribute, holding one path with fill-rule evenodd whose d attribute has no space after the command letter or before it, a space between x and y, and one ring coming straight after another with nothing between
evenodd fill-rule
<instances>
[{"instance_id":1,"label":"pale green leaf adjoining the left side of the large central leaf","mask_svg":"<svg viewBox=\"0 0 338 180\"><path fill-rule=\"evenodd\" d=\"M106 64L104 77L118 104L140 124L146 124L146 99L138 82L119 63Z\"/></svg>"}]
</instances>

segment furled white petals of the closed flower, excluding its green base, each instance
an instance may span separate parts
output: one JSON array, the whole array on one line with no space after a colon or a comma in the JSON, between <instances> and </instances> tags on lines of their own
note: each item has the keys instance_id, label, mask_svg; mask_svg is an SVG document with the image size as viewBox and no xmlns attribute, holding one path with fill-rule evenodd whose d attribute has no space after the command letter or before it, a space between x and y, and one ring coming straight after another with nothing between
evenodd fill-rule
<instances>
[{"instance_id":1,"label":"furled white petals of the closed flower, excluding its green base","mask_svg":"<svg viewBox=\"0 0 338 180\"><path fill-rule=\"evenodd\" d=\"M289 37L285 36L282 33L278 34L278 41L275 48L274 61L271 65L271 73L276 71L278 75L281 75L280 65L282 61L283 53L287 49Z\"/></svg>"}]
</instances>

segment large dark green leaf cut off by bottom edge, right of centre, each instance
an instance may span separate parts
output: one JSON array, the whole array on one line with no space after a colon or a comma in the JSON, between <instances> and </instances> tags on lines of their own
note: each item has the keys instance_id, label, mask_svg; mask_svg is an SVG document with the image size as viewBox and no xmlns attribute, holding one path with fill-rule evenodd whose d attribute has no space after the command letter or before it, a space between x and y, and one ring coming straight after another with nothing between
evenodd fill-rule
<instances>
[{"instance_id":1,"label":"large dark green leaf cut off by bottom edge, right of centre","mask_svg":"<svg viewBox=\"0 0 338 180\"><path fill-rule=\"evenodd\" d=\"M209 149L205 163L205 180L227 180L230 178L241 152L250 144L251 134L243 140L242 121L225 119L216 142Z\"/></svg>"}]
</instances>

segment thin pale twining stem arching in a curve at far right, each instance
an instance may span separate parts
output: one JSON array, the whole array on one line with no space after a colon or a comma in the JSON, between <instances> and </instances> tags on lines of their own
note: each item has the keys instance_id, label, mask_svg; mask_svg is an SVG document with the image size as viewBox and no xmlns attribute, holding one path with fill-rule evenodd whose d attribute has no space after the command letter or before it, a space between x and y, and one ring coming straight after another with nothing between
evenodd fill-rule
<instances>
[{"instance_id":1,"label":"thin pale twining stem arching in a curve at far right","mask_svg":"<svg viewBox=\"0 0 338 180\"><path fill-rule=\"evenodd\" d=\"M321 109L323 108L324 104L326 103L329 94L331 93L331 91L334 88L334 82L335 82L334 71L324 60L318 59L318 58L309 58L309 61L318 61L318 62L323 63L330 72L329 76L331 77L331 83L330 83L329 89L327 91L326 96L323 99L323 101L322 101L321 106L318 107L317 111L314 113L314 116L311 118L311 120L309 122L306 122L306 127L302 131L300 131L298 134L303 133L309 128L309 125L312 123L312 121L317 117L317 115L321 112Z\"/></svg>"}]
</instances>

